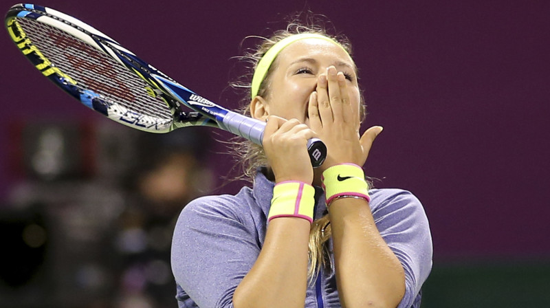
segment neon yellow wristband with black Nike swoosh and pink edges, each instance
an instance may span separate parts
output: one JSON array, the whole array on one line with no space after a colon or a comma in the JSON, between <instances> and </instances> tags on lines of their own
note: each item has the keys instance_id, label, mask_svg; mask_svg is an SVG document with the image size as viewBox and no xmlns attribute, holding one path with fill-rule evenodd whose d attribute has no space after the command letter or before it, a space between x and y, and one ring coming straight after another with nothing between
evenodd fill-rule
<instances>
[{"instance_id":1,"label":"neon yellow wristband with black Nike swoosh and pink edges","mask_svg":"<svg viewBox=\"0 0 550 308\"><path fill-rule=\"evenodd\" d=\"M371 201L363 169L356 164L331 166L322 173L321 180L327 206L339 197L360 197Z\"/></svg>"}]
</instances>

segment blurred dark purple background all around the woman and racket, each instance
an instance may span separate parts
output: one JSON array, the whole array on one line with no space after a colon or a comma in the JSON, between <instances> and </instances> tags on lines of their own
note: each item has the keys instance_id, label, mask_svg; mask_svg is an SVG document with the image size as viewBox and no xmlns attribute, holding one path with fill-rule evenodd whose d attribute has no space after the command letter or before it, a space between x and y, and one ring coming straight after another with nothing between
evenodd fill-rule
<instances>
[{"instance_id":1,"label":"blurred dark purple background all around the woman and racket","mask_svg":"<svg viewBox=\"0 0 550 308\"><path fill-rule=\"evenodd\" d=\"M550 307L550 1L36 4L230 108L231 58L257 42L245 36L305 8L327 15L353 43L365 126L384 126L367 173L414 192L430 219L423 307ZM215 141L230 135L132 131L52 86L5 31L0 50L0 307L176 307L173 219L242 185Z\"/></svg>"}]
</instances>

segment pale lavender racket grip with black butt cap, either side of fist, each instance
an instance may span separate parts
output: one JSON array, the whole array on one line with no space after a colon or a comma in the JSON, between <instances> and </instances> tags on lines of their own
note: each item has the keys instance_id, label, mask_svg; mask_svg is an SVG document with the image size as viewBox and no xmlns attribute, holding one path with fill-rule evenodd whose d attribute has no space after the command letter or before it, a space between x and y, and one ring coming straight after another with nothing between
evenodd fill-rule
<instances>
[{"instance_id":1,"label":"pale lavender racket grip with black butt cap, either side of fist","mask_svg":"<svg viewBox=\"0 0 550 308\"><path fill-rule=\"evenodd\" d=\"M228 111L223 117L220 126L225 131L230 131L235 135L245 137L255 144L262 145L265 122L241 115L240 113ZM311 138L307 140L307 153L309 153L311 166L317 168L327 158L327 146L320 139Z\"/></svg>"}]
</instances>

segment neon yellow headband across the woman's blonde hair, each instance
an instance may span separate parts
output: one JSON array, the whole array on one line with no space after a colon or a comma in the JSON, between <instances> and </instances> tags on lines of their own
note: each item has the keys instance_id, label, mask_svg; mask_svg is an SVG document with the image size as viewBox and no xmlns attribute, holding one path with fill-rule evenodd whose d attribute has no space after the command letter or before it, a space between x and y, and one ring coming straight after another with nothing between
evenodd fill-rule
<instances>
[{"instance_id":1,"label":"neon yellow headband across the woman's blonde hair","mask_svg":"<svg viewBox=\"0 0 550 308\"><path fill-rule=\"evenodd\" d=\"M285 37L285 39L282 39L281 41L275 43L275 45L273 45L270 50L267 50L267 52L265 52L264 56L260 59L258 65L256 66L254 76L252 76L252 98L258 95L258 91L260 90L260 86L265 78L265 75L267 75L267 71L270 69L273 61L275 60L276 56L281 52L281 50L285 49L285 47L287 47L288 45L303 39L322 39L325 41L329 41L340 46L342 50L347 53L347 50L345 50L345 48L340 45L340 43L322 34L300 33L294 34L292 36L287 36Z\"/></svg>"}]
</instances>

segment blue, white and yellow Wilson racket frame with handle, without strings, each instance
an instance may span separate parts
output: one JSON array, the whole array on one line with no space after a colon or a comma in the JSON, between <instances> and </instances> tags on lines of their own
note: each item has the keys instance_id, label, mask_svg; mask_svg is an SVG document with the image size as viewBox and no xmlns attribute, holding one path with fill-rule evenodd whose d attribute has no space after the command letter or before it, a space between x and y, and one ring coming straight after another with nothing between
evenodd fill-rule
<instances>
[{"instance_id":1,"label":"blue, white and yellow Wilson racket frame with handle, without strings","mask_svg":"<svg viewBox=\"0 0 550 308\"><path fill-rule=\"evenodd\" d=\"M160 96L166 102L172 118L155 119L151 115L142 115L129 109L124 110L125 107L118 104L113 116L112 112L109 112L113 111L113 104L102 100L94 91L78 89L75 80L52 64L30 39L26 38L25 32L17 23L17 18L34 19L36 22L58 28L124 65L126 69L151 86L148 91L154 93L149 95ZM5 25L19 50L45 77L87 107L106 115L115 122L153 133L168 133L184 126L212 126L245 137L256 144L262 144L265 122L230 111L199 96L126 50L106 34L74 17L40 5L18 4L8 11ZM192 112L184 112L181 109L182 104ZM325 160L327 148L320 140L316 138L308 140L308 151L313 166L320 166Z\"/></svg>"}]
</instances>

